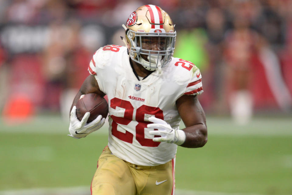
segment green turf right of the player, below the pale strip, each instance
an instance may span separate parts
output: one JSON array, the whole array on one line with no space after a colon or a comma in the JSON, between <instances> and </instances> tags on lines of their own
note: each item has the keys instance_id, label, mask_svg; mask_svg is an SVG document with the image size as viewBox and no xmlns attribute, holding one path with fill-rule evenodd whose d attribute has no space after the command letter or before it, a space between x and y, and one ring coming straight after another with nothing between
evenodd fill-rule
<instances>
[{"instance_id":1,"label":"green turf right of the player, below the pale strip","mask_svg":"<svg viewBox=\"0 0 292 195\"><path fill-rule=\"evenodd\" d=\"M179 147L176 186L200 191L292 194L291 138L209 136L203 148Z\"/></svg>"}]
</instances>

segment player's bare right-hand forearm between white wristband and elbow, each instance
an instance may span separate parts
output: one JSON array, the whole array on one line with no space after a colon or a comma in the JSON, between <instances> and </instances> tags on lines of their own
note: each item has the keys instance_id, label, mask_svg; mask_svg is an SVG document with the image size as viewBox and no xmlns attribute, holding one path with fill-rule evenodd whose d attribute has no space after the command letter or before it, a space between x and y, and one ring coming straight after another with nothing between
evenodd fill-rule
<instances>
[{"instance_id":1,"label":"player's bare right-hand forearm between white wristband and elbow","mask_svg":"<svg viewBox=\"0 0 292 195\"><path fill-rule=\"evenodd\" d=\"M186 141L180 145L182 147L196 148L203 147L207 143L207 126L197 124L182 129L186 133Z\"/></svg>"}]
</instances>

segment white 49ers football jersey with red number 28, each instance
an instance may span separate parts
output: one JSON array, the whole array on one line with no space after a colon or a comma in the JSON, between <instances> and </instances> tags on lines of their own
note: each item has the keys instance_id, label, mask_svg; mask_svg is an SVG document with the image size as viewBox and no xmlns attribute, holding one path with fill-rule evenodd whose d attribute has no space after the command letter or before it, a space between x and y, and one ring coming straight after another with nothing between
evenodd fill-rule
<instances>
[{"instance_id":1,"label":"white 49ers football jersey with red number 28","mask_svg":"<svg viewBox=\"0 0 292 195\"><path fill-rule=\"evenodd\" d=\"M147 128L150 116L163 119L173 129L181 120L176 100L183 94L201 94L200 70L179 58L138 80L130 65L127 48L107 45L93 55L88 68L108 97L109 138L112 153L136 165L164 164L175 157L176 144L154 142Z\"/></svg>"}]
</instances>

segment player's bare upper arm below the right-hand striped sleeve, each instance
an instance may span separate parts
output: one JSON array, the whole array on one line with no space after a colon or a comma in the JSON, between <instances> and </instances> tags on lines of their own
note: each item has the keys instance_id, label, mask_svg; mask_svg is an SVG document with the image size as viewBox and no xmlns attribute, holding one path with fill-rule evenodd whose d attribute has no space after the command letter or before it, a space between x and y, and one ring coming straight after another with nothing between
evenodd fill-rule
<instances>
[{"instance_id":1,"label":"player's bare upper arm below the right-hand striped sleeve","mask_svg":"<svg viewBox=\"0 0 292 195\"><path fill-rule=\"evenodd\" d=\"M199 124L206 126L206 116L196 95L181 96L176 106L186 127Z\"/></svg>"}]
</instances>

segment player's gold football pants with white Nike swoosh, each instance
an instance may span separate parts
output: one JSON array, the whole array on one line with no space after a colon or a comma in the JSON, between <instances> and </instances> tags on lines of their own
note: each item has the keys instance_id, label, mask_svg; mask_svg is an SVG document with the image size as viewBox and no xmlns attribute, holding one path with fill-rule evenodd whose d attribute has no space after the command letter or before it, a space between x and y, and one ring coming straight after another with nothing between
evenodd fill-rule
<instances>
[{"instance_id":1,"label":"player's gold football pants with white Nike swoosh","mask_svg":"<svg viewBox=\"0 0 292 195\"><path fill-rule=\"evenodd\" d=\"M157 166L139 166L103 150L91 182L92 195L174 195L175 159Z\"/></svg>"}]
</instances>

